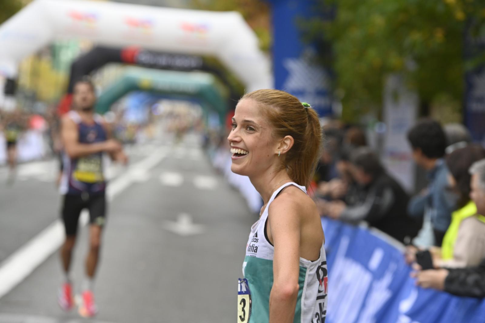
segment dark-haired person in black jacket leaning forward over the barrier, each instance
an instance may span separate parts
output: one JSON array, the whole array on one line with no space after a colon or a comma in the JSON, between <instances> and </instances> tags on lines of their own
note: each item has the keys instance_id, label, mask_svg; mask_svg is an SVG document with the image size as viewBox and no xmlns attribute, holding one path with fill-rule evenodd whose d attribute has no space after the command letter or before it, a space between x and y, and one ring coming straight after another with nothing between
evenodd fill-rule
<instances>
[{"instance_id":1,"label":"dark-haired person in black jacket leaning forward over the barrier","mask_svg":"<svg viewBox=\"0 0 485 323\"><path fill-rule=\"evenodd\" d=\"M326 215L352 224L366 221L401 242L415 237L421 220L408 216L409 195L388 175L377 155L368 147L360 147L352 152L350 162L359 185L356 203L330 202Z\"/></svg>"}]
</instances>

